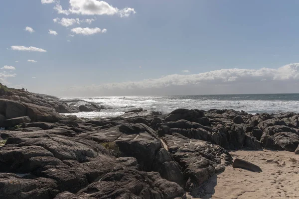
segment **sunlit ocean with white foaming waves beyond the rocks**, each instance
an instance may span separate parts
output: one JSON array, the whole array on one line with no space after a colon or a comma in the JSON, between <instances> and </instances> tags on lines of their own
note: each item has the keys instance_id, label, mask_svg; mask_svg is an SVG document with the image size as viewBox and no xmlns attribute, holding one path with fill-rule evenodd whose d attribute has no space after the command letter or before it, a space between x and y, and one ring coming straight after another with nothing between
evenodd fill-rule
<instances>
[{"instance_id":1,"label":"sunlit ocean with white foaming waves beyond the rocks","mask_svg":"<svg viewBox=\"0 0 299 199\"><path fill-rule=\"evenodd\" d=\"M299 112L299 94L250 94L250 95L196 95L196 96L125 96L125 97L93 97L63 98L79 100L76 105L88 102L104 105L100 112L78 112L78 117L113 117L134 108L148 111L169 113L177 108L188 109L235 109L248 113L260 112Z\"/></svg>"}]
</instances>

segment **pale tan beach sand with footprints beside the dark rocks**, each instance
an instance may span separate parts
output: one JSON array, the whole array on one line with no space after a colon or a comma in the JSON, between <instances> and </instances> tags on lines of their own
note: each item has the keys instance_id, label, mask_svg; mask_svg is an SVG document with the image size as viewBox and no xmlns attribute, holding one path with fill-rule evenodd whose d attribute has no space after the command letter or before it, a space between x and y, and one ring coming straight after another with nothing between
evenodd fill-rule
<instances>
[{"instance_id":1,"label":"pale tan beach sand with footprints beside the dark rocks","mask_svg":"<svg viewBox=\"0 0 299 199\"><path fill-rule=\"evenodd\" d=\"M263 170L255 173L226 167L190 193L199 199L294 199L299 198L299 155L288 151L230 151L233 158L250 161Z\"/></svg>"}]
</instances>

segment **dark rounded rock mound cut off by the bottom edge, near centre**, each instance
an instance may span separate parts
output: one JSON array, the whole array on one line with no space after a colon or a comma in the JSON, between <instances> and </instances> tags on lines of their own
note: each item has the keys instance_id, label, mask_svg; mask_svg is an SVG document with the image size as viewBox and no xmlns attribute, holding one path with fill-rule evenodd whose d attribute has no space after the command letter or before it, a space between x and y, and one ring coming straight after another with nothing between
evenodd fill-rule
<instances>
[{"instance_id":1,"label":"dark rounded rock mound cut off by the bottom edge, near centre","mask_svg":"<svg viewBox=\"0 0 299 199\"><path fill-rule=\"evenodd\" d=\"M72 199L82 199L87 195L97 199L173 199L183 197L184 191L176 183L162 179L158 173L125 169L106 174L101 181L90 184Z\"/></svg>"}]
</instances>

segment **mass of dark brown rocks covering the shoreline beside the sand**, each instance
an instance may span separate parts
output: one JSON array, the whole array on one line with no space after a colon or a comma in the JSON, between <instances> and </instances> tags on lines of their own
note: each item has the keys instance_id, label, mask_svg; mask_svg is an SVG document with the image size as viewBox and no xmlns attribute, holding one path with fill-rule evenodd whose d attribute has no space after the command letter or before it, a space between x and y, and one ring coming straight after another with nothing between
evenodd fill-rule
<instances>
[{"instance_id":1,"label":"mass of dark brown rocks covering the shoreline beside the sand","mask_svg":"<svg viewBox=\"0 0 299 199\"><path fill-rule=\"evenodd\" d=\"M137 109L82 119L60 115L80 108L55 97L5 88L0 96L3 199L185 199L233 163L227 150L299 153L294 112Z\"/></svg>"}]
</instances>

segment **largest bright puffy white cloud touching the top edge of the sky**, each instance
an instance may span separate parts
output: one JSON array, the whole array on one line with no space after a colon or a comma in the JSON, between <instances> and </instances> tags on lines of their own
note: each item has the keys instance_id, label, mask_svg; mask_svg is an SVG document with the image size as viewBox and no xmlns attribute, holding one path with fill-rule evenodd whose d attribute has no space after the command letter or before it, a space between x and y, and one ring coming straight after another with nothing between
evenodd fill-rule
<instances>
[{"instance_id":1,"label":"largest bright puffy white cloud touching the top edge of the sky","mask_svg":"<svg viewBox=\"0 0 299 199\"><path fill-rule=\"evenodd\" d=\"M64 10L59 2L54 9L60 14L82 14L82 15L114 15L119 14L121 17L128 17L131 13L136 13L134 8L126 7L118 9L103 0L69 0L69 8Z\"/></svg>"}]
</instances>

